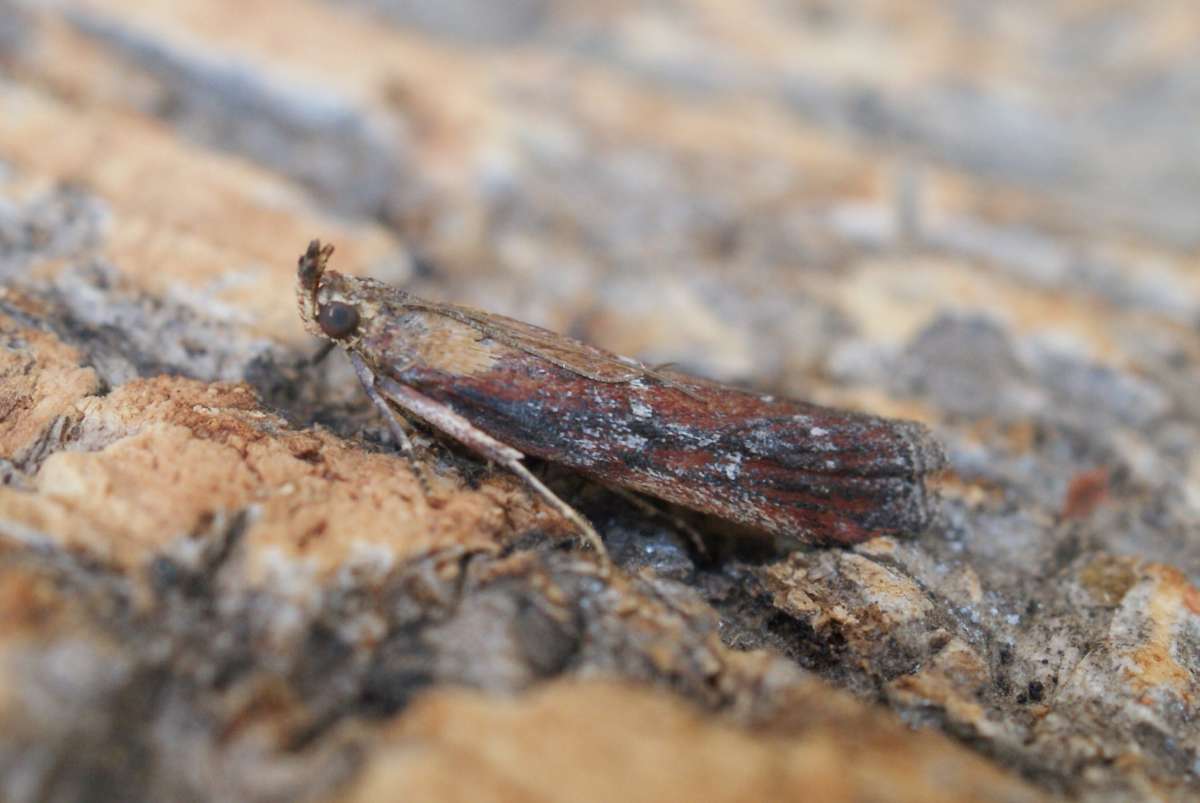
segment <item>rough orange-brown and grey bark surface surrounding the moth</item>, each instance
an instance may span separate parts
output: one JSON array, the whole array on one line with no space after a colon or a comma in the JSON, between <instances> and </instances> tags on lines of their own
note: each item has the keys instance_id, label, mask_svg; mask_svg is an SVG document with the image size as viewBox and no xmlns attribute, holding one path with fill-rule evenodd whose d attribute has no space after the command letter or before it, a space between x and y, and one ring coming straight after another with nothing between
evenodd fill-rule
<instances>
[{"instance_id":1,"label":"rough orange-brown and grey bark surface surrounding the moth","mask_svg":"<svg viewBox=\"0 0 1200 803\"><path fill-rule=\"evenodd\" d=\"M0 799L1194 799L1188 4L0 0ZM918 419L707 559L425 438L295 257Z\"/></svg>"}]
</instances>

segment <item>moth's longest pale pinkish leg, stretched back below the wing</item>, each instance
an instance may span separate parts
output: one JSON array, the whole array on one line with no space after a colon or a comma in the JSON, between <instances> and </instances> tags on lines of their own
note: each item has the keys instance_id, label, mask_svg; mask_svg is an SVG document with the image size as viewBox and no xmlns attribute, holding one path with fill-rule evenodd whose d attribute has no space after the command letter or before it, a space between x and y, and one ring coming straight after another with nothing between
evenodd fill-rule
<instances>
[{"instance_id":1,"label":"moth's longest pale pinkish leg, stretched back below the wing","mask_svg":"<svg viewBox=\"0 0 1200 803\"><path fill-rule=\"evenodd\" d=\"M524 467L524 463L521 462L521 459L524 457L524 455L475 427L470 421L464 419L462 415L458 415L458 413L455 413L445 405L438 403L428 396L400 384L395 379L374 376L362 362L362 359L356 354L352 354L350 360L354 361L354 368L359 371L360 378L365 374L371 377L372 384L378 385L377 392L382 391L388 400L394 402L400 408L422 419L468 449L472 449L487 460L492 460L504 466L510 472L520 477L524 484L538 493L538 496L545 499L551 508L557 510L559 515L575 525L576 529L580 531L592 549L607 561L608 552L605 550L604 541L600 539L596 531L575 510L575 508L559 499L553 491L546 487L541 480L534 477L529 469ZM364 379L364 384L366 384L366 379Z\"/></svg>"}]
</instances>

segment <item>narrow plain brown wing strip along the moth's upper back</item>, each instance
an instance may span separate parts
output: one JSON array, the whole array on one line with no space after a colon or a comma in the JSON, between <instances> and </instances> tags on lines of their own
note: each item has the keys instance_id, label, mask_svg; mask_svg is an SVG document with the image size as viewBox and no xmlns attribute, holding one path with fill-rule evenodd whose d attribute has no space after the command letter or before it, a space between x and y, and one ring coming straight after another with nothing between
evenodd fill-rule
<instances>
[{"instance_id":1,"label":"narrow plain brown wing strip along the moth's upper back","mask_svg":"<svg viewBox=\"0 0 1200 803\"><path fill-rule=\"evenodd\" d=\"M658 376L636 360L618 356L574 337L514 318L455 304L408 302L407 306L416 306L464 323L505 346L533 354L595 382L620 383L644 376Z\"/></svg>"}]
</instances>

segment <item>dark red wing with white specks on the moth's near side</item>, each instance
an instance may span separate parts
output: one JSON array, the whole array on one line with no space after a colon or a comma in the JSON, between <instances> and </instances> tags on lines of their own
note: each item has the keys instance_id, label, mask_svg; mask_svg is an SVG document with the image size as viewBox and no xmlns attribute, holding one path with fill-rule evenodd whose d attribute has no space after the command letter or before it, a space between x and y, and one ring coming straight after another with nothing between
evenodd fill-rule
<instances>
[{"instance_id":1,"label":"dark red wing with white specks on the moth's near side","mask_svg":"<svg viewBox=\"0 0 1200 803\"><path fill-rule=\"evenodd\" d=\"M394 376L526 454L809 541L924 529L924 479L944 460L917 424L710 383L684 394L644 376L596 382L516 347L469 377L430 366Z\"/></svg>"}]
</instances>

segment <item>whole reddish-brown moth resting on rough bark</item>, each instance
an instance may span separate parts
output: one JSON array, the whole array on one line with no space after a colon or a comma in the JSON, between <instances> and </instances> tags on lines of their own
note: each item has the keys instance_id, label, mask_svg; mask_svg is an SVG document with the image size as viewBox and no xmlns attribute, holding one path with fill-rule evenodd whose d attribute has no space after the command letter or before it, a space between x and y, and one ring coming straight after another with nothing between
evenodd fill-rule
<instances>
[{"instance_id":1,"label":"whole reddish-brown moth resting on rough bark","mask_svg":"<svg viewBox=\"0 0 1200 803\"><path fill-rule=\"evenodd\" d=\"M925 478L944 456L919 424L746 392L650 368L571 337L426 301L300 257L300 317L346 349L410 460L413 417L520 477L601 555L592 526L521 462L808 543L914 533L934 515Z\"/></svg>"}]
</instances>

